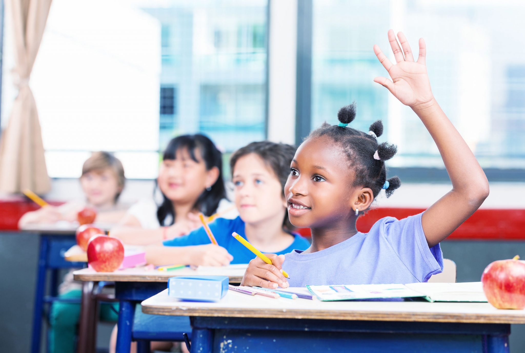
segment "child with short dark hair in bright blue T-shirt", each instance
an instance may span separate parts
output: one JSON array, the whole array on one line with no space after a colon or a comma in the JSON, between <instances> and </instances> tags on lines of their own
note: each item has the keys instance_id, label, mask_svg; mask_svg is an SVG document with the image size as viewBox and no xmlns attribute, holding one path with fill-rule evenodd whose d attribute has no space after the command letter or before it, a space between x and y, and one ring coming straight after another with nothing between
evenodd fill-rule
<instances>
[{"instance_id":1,"label":"child with short dark hair in bright blue T-shirt","mask_svg":"<svg viewBox=\"0 0 525 353\"><path fill-rule=\"evenodd\" d=\"M233 255L229 255L228 262L248 263L254 258L253 253L232 237L232 232L237 232L258 249L278 254L309 247L306 239L291 232L293 227L282 192L295 151L290 145L262 141L250 143L233 153L230 170L239 217L218 218L209 224L223 252ZM146 260L153 264L227 264L217 258L222 253L206 251L212 245L202 227L186 236L166 240L164 245L147 248Z\"/></svg>"}]
</instances>

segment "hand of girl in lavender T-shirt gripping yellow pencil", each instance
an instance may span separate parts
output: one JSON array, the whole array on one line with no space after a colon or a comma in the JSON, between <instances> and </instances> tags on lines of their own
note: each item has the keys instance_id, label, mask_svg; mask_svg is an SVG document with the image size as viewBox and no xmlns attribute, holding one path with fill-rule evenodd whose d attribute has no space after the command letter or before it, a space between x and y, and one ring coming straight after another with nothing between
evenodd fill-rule
<instances>
[{"instance_id":1,"label":"hand of girl in lavender T-shirt gripping yellow pencil","mask_svg":"<svg viewBox=\"0 0 525 353\"><path fill-rule=\"evenodd\" d=\"M275 289L278 286L287 288L290 286L286 277L282 275L282 263L285 262L285 255L265 254L272 264L267 264L259 258L250 261L248 268L243 276L240 285L259 286Z\"/></svg>"}]
</instances>

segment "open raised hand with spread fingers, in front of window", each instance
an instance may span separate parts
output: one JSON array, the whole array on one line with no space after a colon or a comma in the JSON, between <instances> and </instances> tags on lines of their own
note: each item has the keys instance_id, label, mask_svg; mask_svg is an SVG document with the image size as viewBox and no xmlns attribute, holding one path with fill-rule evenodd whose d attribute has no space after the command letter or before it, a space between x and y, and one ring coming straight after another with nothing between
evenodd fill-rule
<instances>
[{"instance_id":1,"label":"open raised hand with spread fingers, in front of window","mask_svg":"<svg viewBox=\"0 0 525 353\"><path fill-rule=\"evenodd\" d=\"M423 38L419 39L419 57L414 61L412 50L408 45L405 35L400 32L397 38L403 47L401 50L392 29L388 30L388 41L394 52L396 65L383 54L379 46L374 45L374 53L377 59L388 71L392 81L386 77L376 77L375 82L386 87L401 103L414 107L431 101L434 96L430 89L428 74L425 65L426 46ZM403 56L404 53L404 56Z\"/></svg>"}]
</instances>

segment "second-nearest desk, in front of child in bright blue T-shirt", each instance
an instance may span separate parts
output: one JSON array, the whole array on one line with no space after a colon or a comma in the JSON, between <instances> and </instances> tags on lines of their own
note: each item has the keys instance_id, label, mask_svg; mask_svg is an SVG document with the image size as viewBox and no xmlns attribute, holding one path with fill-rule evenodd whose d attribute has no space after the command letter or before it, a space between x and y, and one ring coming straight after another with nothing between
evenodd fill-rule
<instances>
[{"instance_id":1,"label":"second-nearest desk, in front of child in bright blue T-shirt","mask_svg":"<svg viewBox=\"0 0 525 353\"><path fill-rule=\"evenodd\" d=\"M231 265L225 268L200 266L197 270L185 268L165 272L146 270L145 268L125 269L114 272L96 272L92 269L82 269L74 272L74 279L86 281L86 283L99 281L115 282L115 296L119 299L117 352L125 353L129 352L130 349L135 304L165 290L167 280L170 277L223 275L229 276L230 283L240 283L245 270L246 265ZM84 297L87 295L85 291L82 291L82 302L85 301Z\"/></svg>"}]
</instances>

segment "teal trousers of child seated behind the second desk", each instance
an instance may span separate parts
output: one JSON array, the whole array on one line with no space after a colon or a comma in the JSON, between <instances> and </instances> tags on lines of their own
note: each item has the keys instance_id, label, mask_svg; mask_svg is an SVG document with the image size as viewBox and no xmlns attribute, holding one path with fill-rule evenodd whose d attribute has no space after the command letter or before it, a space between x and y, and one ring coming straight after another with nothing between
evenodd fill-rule
<instances>
[{"instance_id":1,"label":"teal trousers of child seated behind the second desk","mask_svg":"<svg viewBox=\"0 0 525 353\"><path fill-rule=\"evenodd\" d=\"M80 298L82 291L71 290L59 295L60 298ZM113 309L116 312L113 311ZM102 304L100 306L100 320L116 322L118 319L118 304ZM49 331L48 346L49 353L75 353L77 325L80 319L79 303L61 303L51 304L49 311Z\"/></svg>"}]
</instances>

